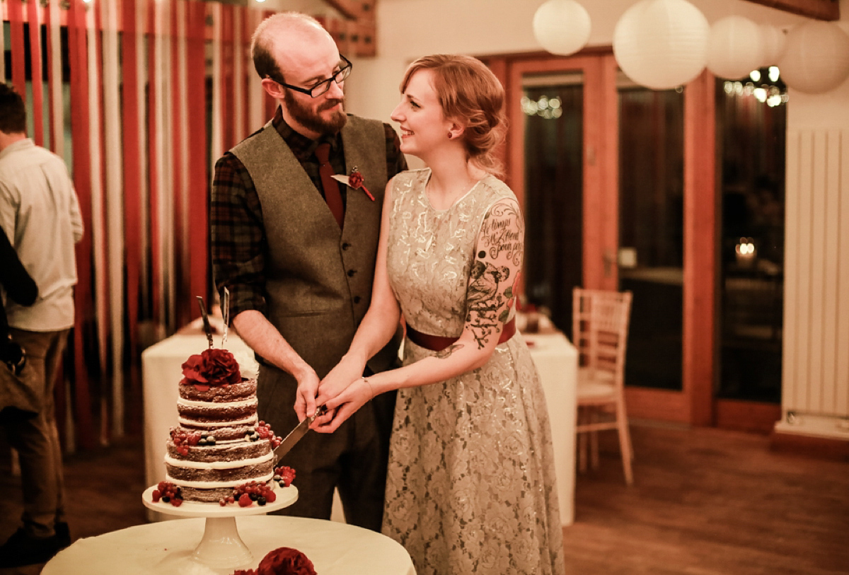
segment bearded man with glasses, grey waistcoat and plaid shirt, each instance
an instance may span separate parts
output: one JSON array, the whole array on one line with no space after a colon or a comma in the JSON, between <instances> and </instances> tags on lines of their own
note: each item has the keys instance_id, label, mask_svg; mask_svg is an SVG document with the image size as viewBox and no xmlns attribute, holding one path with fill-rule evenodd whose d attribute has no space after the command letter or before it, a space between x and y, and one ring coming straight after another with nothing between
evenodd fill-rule
<instances>
[{"instance_id":1,"label":"bearded man with glasses, grey waistcoat and plaid shirt","mask_svg":"<svg viewBox=\"0 0 849 575\"><path fill-rule=\"evenodd\" d=\"M319 381L368 310L385 185L407 164L391 126L346 114L351 63L316 20L270 16L251 54L278 109L216 163L212 265L233 327L260 358L260 419L285 435L315 412ZM331 178L355 167L368 192ZM369 374L393 365L398 343ZM381 396L337 433L307 433L282 461L299 490L283 512L329 519L339 488L346 522L380 531L394 404Z\"/></svg>"}]
</instances>

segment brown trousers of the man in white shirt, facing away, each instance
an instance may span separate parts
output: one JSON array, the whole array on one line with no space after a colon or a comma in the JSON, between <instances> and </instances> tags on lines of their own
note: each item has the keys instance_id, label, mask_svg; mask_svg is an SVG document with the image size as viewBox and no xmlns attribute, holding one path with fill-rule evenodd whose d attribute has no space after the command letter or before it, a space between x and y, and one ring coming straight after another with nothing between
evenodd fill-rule
<instances>
[{"instance_id":1,"label":"brown trousers of the man in white shirt, facing away","mask_svg":"<svg viewBox=\"0 0 849 575\"><path fill-rule=\"evenodd\" d=\"M42 403L35 416L4 417L3 428L20 460L24 528L34 537L50 537L56 522L65 521L65 480L53 384L69 330L30 332L13 327L10 332L26 351L25 371L32 373L25 380L36 387Z\"/></svg>"}]
</instances>

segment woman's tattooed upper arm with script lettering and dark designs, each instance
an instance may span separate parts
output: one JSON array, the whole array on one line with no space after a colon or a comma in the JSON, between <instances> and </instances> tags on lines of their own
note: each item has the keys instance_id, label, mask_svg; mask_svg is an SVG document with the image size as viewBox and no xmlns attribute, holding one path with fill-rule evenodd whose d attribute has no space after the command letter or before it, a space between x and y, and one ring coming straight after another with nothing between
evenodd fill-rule
<instances>
[{"instance_id":1,"label":"woman's tattooed upper arm with script lettering and dark designs","mask_svg":"<svg viewBox=\"0 0 849 575\"><path fill-rule=\"evenodd\" d=\"M481 224L475 262L466 294L466 328L483 349L509 317L514 282L510 265L519 268L524 250L524 222L513 203L496 204ZM516 270L518 271L518 269Z\"/></svg>"}]
</instances>

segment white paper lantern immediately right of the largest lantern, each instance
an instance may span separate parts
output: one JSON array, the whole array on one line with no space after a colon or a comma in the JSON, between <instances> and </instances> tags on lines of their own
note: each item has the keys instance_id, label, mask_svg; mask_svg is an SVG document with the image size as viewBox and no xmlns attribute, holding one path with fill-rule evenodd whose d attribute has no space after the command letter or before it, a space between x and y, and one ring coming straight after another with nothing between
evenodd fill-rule
<instances>
[{"instance_id":1,"label":"white paper lantern immediately right of the largest lantern","mask_svg":"<svg viewBox=\"0 0 849 575\"><path fill-rule=\"evenodd\" d=\"M720 78L739 80L761 67L761 28L743 16L726 16L711 25L707 69Z\"/></svg>"}]
</instances>

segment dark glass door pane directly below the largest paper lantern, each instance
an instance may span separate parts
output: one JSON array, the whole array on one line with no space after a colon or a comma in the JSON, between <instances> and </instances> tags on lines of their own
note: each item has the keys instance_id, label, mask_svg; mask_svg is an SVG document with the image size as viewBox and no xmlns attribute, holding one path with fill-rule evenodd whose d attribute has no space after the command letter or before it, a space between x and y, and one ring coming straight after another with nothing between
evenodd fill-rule
<instances>
[{"instance_id":1,"label":"dark glass door pane directly below the largest paper lantern","mask_svg":"<svg viewBox=\"0 0 849 575\"><path fill-rule=\"evenodd\" d=\"M683 90L619 72L619 288L633 293L627 386L681 391Z\"/></svg>"}]
</instances>

